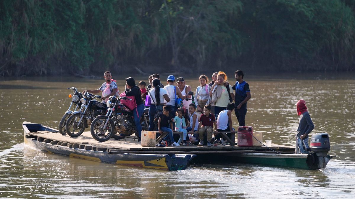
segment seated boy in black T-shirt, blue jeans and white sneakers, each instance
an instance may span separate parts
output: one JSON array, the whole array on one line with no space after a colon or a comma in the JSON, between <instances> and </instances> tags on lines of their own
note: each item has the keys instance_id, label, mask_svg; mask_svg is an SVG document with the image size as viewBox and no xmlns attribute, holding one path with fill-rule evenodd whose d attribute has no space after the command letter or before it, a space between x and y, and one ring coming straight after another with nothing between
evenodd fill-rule
<instances>
[{"instance_id":1,"label":"seated boy in black T-shirt, blue jeans and white sneakers","mask_svg":"<svg viewBox=\"0 0 355 199\"><path fill-rule=\"evenodd\" d=\"M170 141L171 141L171 146L172 147L178 147L180 144L176 143L174 141L174 136L173 136L173 121L171 119L174 119L173 116L170 115L170 106L163 106L163 113L159 115L158 119L158 131L159 133L166 132L169 134ZM170 128L169 128L170 125ZM168 136L166 136L168 137ZM165 139L165 138L164 138ZM163 142L162 142L163 144ZM165 142L166 145L166 142Z\"/></svg>"}]
</instances>

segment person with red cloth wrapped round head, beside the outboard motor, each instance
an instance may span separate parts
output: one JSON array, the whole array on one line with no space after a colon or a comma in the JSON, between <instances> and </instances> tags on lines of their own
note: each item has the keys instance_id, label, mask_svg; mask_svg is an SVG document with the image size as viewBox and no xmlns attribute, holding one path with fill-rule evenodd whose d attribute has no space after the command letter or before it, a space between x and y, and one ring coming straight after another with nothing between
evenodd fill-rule
<instances>
[{"instance_id":1,"label":"person with red cloth wrapped round head, beside the outboard motor","mask_svg":"<svg viewBox=\"0 0 355 199\"><path fill-rule=\"evenodd\" d=\"M306 102L300 99L295 105L297 109L297 114L300 116L297 134L296 134L296 154L307 153L303 146L299 146L299 139L302 140L302 144L307 144L308 146L308 134L314 129L314 125L310 114L307 111ZM301 148L302 147L302 148ZM306 147L308 148L308 147Z\"/></svg>"}]
</instances>

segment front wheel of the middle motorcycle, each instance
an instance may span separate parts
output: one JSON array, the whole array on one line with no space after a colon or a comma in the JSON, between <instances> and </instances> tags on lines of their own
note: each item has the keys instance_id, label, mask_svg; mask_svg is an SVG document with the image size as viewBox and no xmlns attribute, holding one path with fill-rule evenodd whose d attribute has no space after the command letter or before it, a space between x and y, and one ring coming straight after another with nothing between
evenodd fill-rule
<instances>
[{"instance_id":1,"label":"front wheel of the middle motorcycle","mask_svg":"<svg viewBox=\"0 0 355 199\"><path fill-rule=\"evenodd\" d=\"M65 123L65 131L70 137L78 137L84 132L86 126L86 118L83 118L79 123L80 118L80 113L73 114Z\"/></svg>"}]
</instances>

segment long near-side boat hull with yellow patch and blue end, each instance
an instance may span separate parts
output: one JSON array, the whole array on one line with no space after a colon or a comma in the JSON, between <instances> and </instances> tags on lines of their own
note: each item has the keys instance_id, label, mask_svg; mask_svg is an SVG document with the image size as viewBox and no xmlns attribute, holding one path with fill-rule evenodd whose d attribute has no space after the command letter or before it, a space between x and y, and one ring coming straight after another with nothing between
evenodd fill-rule
<instances>
[{"instance_id":1,"label":"long near-side boat hull with yellow patch and blue end","mask_svg":"<svg viewBox=\"0 0 355 199\"><path fill-rule=\"evenodd\" d=\"M106 151L87 150L61 146L58 144L46 143L44 139L36 139L31 136L31 132L54 130L40 124L24 123L24 142L27 146L43 152L66 155L69 157L94 160L104 163L122 164L129 166L140 166L150 169L164 169L170 171L184 170L196 155L186 154L109 154ZM38 141L42 140L42 141ZM69 145L73 146L73 145Z\"/></svg>"}]
</instances>

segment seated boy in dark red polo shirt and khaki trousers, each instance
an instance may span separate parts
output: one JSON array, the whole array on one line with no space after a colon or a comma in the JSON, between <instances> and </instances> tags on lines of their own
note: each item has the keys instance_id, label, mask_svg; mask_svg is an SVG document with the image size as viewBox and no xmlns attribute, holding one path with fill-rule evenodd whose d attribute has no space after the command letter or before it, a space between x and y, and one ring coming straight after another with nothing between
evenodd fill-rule
<instances>
[{"instance_id":1,"label":"seated boy in dark red polo shirt and khaki trousers","mask_svg":"<svg viewBox=\"0 0 355 199\"><path fill-rule=\"evenodd\" d=\"M200 138L200 143L198 145L203 145L203 136L207 132L207 147L211 147L213 125L215 132L217 133L217 122L214 114L211 114L211 105L206 105L203 107L203 114L200 117L200 123L198 124L197 129Z\"/></svg>"}]
</instances>

